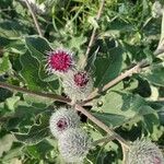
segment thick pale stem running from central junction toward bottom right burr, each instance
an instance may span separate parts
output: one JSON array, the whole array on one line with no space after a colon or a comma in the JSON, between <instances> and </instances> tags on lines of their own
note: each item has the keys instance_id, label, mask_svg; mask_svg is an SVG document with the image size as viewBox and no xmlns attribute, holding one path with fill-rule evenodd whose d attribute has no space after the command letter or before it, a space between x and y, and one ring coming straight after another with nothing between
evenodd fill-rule
<instances>
[{"instance_id":1,"label":"thick pale stem running from central junction toward bottom right burr","mask_svg":"<svg viewBox=\"0 0 164 164\"><path fill-rule=\"evenodd\" d=\"M92 120L95 125L97 125L99 128L102 128L104 131L106 131L110 136L115 136L115 139L118 140L121 145L129 148L128 142L122 139L118 133L116 133L113 129L110 129L108 126L106 126L104 122L95 118L90 112L85 110L82 106L75 104L75 109L81 112L83 115L85 115L90 120Z\"/></svg>"}]
</instances>

